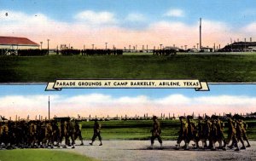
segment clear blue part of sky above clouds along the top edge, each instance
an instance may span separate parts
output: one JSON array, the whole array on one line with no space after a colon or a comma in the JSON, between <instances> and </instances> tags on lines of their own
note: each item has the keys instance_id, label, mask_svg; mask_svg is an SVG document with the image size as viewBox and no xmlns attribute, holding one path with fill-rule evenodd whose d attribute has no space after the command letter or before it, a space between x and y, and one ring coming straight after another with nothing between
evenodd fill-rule
<instances>
[{"instance_id":1,"label":"clear blue part of sky above clouds along the top edge","mask_svg":"<svg viewBox=\"0 0 256 161\"><path fill-rule=\"evenodd\" d=\"M72 22L73 16L79 12L93 10L114 13L121 20L127 14L137 13L143 14L149 22L179 20L192 24L203 17L207 20L224 21L231 26L241 26L256 19L255 4L254 0L0 0L0 9L26 14L41 13L64 22ZM164 16L170 9L183 10L183 16ZM123 26L131 25L127 23Z\"/></svg>"}]
</instances>

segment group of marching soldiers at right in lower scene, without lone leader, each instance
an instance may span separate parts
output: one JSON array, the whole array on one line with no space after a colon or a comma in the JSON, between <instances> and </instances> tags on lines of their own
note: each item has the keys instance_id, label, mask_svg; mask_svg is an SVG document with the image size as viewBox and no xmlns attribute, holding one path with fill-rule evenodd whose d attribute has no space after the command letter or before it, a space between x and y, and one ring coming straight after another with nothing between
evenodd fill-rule
<instances>
[{"instance_id":1,"label":"group of marching soldiers at right in lower scene, without lone leader","mask_svg":"<svg viewBox=\"0 0 256 161\"><path fill-rule=\"evenodd\" d=\"M226 150L227 147L230 149L236 147L236 151L246 149L244 141L247 142L247 147L251 147L246 133L247 124L243 119L244 118L240 115L235 115L234 117L230 115L227 116L228 137L225 139L224 122L221 121L218 116L199 117L197 123L192 116L187 116L187 118L179 117L180 130L178 131L176 148L180 148L181 141L185 142L185 146L183 147L185 150L189 149L190 141L195 142L194 148L199 148L199 141L201 141L202 149L211 148L212 150L216 150L216 142L218 142L218 148L223 150ZM228 146L230 141L231 145ZM239 141L241 141L241 148L238 146Z\"/></svg>"}]
</instances>

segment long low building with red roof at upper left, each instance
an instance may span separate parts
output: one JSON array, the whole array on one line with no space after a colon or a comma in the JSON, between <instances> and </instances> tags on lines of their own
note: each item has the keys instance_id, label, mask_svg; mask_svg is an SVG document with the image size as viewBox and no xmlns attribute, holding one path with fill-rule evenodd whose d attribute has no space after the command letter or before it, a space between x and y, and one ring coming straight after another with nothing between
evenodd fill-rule
<instances>
[{"instance_id":1,"label":"long low building with red roof at upper left","mask_svg":"<svg viewBox=\"0 0 256 161\"><path fill-rule=\"evenodd\" d=\"M0 37L0 49L39 49L38 43L26 37Z\"/></svg>"}]
</instances>

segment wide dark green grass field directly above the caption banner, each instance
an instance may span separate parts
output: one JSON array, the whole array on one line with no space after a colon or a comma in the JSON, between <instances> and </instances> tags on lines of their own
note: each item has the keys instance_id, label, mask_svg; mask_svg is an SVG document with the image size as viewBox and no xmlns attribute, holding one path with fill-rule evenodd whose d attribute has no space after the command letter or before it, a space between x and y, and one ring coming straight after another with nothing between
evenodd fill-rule
<instances>
[{"instance_id":1,"label":"wide dark green grass field directly above the caption banner","mask_svg":"<svg viewBox=\"0 0 256 161\"><path fill-rule=\"evenodd\" d=\"M256 54L157 56L0 57L0 82L49 82L56 78L192 78L207 82L256 82Z\"/></svg>"}]
</instances>

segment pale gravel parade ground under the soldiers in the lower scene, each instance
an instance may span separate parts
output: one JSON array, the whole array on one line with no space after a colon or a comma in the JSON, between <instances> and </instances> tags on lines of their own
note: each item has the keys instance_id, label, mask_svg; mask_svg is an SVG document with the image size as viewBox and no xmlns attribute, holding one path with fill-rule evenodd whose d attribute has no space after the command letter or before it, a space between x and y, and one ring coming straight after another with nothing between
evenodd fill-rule
<instances>
[{"instance_id":1,"label":"pale gravel parade ground under the soldiers in the lower scene","mask_svg":"<svg viewBox=\"0 0 256 161\"><path fill-rule=\"evenodd\" d=\"M102 141L102 143L101 147L98 146L98 141L90 146L89 141L84 141L84 146L56 150L75 152L97 160L256 160L256 141L251 141L252 147L239 152L230 149L227 151L195 150L192 145L189 145L189 151L175 150L176 141L163 141L162 150L157 140L155 140L153 150L148 148L150 141Z\"/></svg>"}]
</instances>

